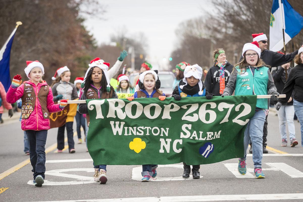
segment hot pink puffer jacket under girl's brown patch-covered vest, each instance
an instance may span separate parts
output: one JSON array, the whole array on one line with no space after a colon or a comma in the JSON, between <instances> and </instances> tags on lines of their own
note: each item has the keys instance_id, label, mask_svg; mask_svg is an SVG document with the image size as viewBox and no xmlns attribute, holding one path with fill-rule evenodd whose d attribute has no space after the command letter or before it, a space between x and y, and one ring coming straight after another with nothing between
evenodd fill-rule
<instances>
[{"instance_id":1,"label":"hot pink puffer jacket under girl's brown patch-covered vest","mask_svg":"<svg viewBox=\"0 0 303 202\"><path fill-rule=\"evenodd\" d=\"M41 89L41 87L47 85L46 82L38 83L37 86L31 81L25 81L25 83L31 84L33 86L36 96L38 95L38 92ZM6 100L9 103L15 103L18 99L20 99L23 96L23 91L24 91L23 85L24 84L21 84L18 88L12 88L12 86L9 87L6 94ZM36 99L36 101L37 102L35 104L34 111L31 113L29 118L22 119L21 121L21 128L24 131L25 130L40 131L40 130L48 130L50 128L49 119L43 118L42 108L39 99ZM49 113L61 111L61 109L59 108L59 104L54 104L52 88L49 88L46 107Z\"/></svg>"}]
</instances>

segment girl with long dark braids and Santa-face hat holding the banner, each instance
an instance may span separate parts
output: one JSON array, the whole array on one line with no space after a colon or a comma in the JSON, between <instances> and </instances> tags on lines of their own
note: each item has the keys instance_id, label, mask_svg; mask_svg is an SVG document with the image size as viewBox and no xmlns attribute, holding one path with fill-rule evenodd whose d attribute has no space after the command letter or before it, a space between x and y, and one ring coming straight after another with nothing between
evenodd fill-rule
<instances>
[{"instance_id":1,"label":"girl with long dark braids and Santa-face hat holding the banner","mask_svg":"<svg viewBox=\"0 0 303 202\"><path fill-rule=\"evenodd\" d=\"M109 84L107 72L109 63L104 62L100 58L95 58L88 66L84 83L81 86L84 88L81 100L118 98L115 89ZM89 127L87 104L79 104L78 111L80 114L86 114L87 125ZM94 165L94 168L94 180L100 182L100 184L105 184L107 182L106 165Z\"/></svg>"}]
</instances>

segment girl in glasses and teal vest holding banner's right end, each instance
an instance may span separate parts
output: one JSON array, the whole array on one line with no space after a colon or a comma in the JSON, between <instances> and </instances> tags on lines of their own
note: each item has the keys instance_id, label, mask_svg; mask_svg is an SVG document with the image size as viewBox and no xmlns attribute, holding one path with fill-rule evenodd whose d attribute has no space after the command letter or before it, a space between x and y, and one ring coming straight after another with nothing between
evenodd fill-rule
<instances>
[{"instance_id":1,"label":"girl in glasses and teal vest holding banner's right end","mask_svg":"<svg viewBox=\"0 0 303 202\"><path fill-rule=\"evenodd\" d=\"M222 97L232 95L265 95L271 94L271 99L277 100L279 95L268 67L260 59L261 49L258 42L246 43L242 49L243 59L235 65ZM265 178L262 172L263 157L263 125L268 114L267 99L257 99L255 115L248 121L244 132L244 157L239 158L238 172L246 174L246 150L251 140L252 160L256 178Z\"/></svg>"}]
</instances>

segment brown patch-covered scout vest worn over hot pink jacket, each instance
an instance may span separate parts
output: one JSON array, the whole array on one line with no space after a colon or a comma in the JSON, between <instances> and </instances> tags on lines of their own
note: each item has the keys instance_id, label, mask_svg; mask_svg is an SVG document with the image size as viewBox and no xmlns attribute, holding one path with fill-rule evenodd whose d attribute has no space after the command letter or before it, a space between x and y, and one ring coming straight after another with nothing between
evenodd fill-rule
<instances>
[{"instance_id":1,"label":"brown patch-covered scout vest worn over hot pink jacket","mask_svg":"<svg viewBox=\"0 0 303 202\"><path fill-rule=\"evenodd\" d=\"M24 87L24 91L23 91L23 96L21 98L21 100L22 100L22 107L21 107L22 119L28 119L29 115L32 114L32 112L35 109L37 98L38 98L41 108L42 108L43 118L49 119L49 112L46 107L49 86L48 85L42 86L40 88L37 96L35 95L34 87L31 84L25 83L23 87Z\"/></svg>"}]
</instances>

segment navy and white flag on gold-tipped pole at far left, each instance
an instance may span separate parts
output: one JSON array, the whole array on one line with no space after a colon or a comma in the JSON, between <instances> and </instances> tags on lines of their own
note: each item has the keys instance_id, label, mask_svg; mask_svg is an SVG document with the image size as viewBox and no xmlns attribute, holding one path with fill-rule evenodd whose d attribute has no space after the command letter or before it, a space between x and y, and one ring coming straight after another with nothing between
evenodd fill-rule
<instances>
[{"instance_id":1,"label":"navy and white flag on gold-tipped pole at far left","mask_svg":"<svg viewBox=\"0 0 303 202\"><path fill-rule=\"evenodd\" d=\"M8 88L11 85L11 78L9 75L9 58L11 55L12 43L14 40L15 32L18 26L22 25L22 22L16 22L16 24L17 25L12 34L8 37L0 49L0 81L3 84L5 91L8 91Z\"/></svg>"}]
</instances>

